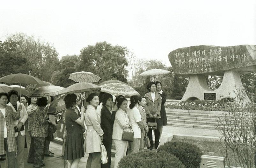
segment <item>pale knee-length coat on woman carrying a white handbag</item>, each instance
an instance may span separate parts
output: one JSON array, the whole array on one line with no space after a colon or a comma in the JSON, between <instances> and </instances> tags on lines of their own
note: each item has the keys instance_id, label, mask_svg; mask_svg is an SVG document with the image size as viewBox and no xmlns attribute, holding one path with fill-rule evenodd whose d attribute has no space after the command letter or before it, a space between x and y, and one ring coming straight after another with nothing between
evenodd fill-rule
<instances>
[{"instance_id":1,"label":"pale knee-length coat on woman carrying a white handbag","mask_svg":"<svg viewBox=\"0 0 256 168\"><path fill-rule=\"evenodd\" d=\"M88 105L85 112L85 149L86 153L100 152L103 130L100 128L100 113L92 105Z\"/></svg>"}]
</instances>

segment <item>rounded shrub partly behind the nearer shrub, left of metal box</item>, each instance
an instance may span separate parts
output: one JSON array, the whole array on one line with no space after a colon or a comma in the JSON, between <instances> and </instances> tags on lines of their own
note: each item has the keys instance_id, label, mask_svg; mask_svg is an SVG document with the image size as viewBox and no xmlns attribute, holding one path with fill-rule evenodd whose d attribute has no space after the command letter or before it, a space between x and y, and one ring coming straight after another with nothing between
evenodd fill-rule
<instances>
[{"instance_id":1,"label":"rounded shrub partly behind the nearer shrub, left of metal box","mask_svg":"<svg viewBox=\"0 0 256 168\"><path fill-rule=\"evenodd\" d=\"M199 168L202 150L186 142L167 142L159 146L157 151L176 156L187 168Z\"/></svg>"}]
</instances>

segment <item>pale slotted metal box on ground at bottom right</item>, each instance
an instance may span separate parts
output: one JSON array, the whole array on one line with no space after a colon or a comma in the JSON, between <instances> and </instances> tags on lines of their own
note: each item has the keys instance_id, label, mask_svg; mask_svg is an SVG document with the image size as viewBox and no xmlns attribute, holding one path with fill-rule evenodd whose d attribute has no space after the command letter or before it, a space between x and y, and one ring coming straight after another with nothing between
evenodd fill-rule
<instances>
[{"instance_id":1,"label":"pale slotted metal box on ground at bottom right","mask_svg":"<svg viewBox=\"0 0 256 168\"><path fill-rule=\"evenodd\" d=\"M202 155L200 168L225 168L224 157Z\"/></svg>"}]
</instances>

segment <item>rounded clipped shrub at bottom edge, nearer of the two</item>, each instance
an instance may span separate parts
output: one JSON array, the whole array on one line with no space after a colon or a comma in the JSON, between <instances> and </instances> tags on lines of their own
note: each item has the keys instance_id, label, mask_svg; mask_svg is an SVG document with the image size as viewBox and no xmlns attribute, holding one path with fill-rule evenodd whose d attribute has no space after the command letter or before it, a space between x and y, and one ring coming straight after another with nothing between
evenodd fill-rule
<instances>
[{"instance_id":1,"label":"rounded clipped shrub at bottom edge, nearer of the two","mask_svg":"<svg viewBox=\"0 0 256 168\"><path fill-rule=\"evenodd\" d=\"M123 157L119 168L186 168L179 159L169 153L145 151Z\"/></svg>"}]
</instances>

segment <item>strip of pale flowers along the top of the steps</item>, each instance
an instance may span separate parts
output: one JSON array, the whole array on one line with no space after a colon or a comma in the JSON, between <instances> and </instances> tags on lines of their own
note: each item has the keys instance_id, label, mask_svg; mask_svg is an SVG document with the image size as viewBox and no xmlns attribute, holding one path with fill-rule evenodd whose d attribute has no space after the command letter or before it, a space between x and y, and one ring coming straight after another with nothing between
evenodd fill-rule
<instances>
[{"instance_id":1,"label":"strip of pale flowers along the top of the steps","mask_svg":"<svg viewBox=\"0 0 256 168\"><path fill-rule=\"evenodd\" d=\"M205 110L205 111L230 111L235 102L223 100L195 100L193 102L181 101L177 103L166 103L165 108L184 110Z\"/></svg>"}]
</instances>

